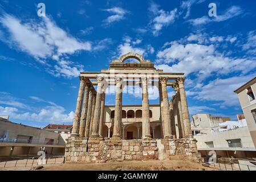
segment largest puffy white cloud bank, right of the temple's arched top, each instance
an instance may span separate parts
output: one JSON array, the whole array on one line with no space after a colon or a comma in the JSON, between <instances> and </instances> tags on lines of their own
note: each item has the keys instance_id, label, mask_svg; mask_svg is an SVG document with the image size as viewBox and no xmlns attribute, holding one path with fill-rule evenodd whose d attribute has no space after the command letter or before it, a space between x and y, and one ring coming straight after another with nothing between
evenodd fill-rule
<instances>
[{"instance_id":1,"label":"largest puffy white cloud bank, right of the temple's arched top","mask_svg":"<svg viewBox=\"0 0 256 182\"><path fill-rule=\"evenodd\" d=\"M156 68L165 72L182 72L186 75L196 73L199 80L216 75L228 75L231 72L248 73L255 69L255 60L227 57L216 50L213 44L180 44L173 42L170 47L157 53ZM173 63L171 66L168 63ZM200 65L200 66L199 66Z\"/></svg>"}]
</instances>

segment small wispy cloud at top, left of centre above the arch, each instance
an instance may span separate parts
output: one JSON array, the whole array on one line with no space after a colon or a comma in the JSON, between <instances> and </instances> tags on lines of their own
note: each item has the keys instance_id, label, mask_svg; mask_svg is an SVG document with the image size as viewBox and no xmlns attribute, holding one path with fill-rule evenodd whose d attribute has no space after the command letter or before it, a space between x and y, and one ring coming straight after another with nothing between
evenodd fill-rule
<instances>
[{"instance_id":1,"label":"small wispy cloud at top, left of centre above the arch","mask_svg":"<svg viewBox=\"0 0 256 182\"><path fill-rule=\"evenodd\" d=\"M121 7L112 7L111 9L105 9L103 11L108 11L113 15L108 16L107 19L103 20L105 25L109 25L113 22L119 22L120 20L124 19L124 15L128 13L127 10L122 9Z\"/></svg>"}]
</instances>

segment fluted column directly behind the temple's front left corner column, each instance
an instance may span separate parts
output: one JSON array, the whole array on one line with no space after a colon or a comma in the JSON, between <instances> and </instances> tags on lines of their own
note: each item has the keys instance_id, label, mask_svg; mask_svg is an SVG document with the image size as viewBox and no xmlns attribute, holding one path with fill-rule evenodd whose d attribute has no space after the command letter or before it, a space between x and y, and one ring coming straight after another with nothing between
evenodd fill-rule
<instances>
[{"instance_id":1,"label":"fluted column directly behind the temple's front left corner column","mask_svg":"<svg viewBox=\"0 0 256 182\"><path fill-rule=\"evenodd\" d=\"M84 94L84 103L83 103L83 110L82 110L82 117L80 119L80 129L79 129L79 136L84 137L84 133L86 130L86 115L88 110L88 98L89 98L89 88L90 84L86 84L85 94Z\"/></svg>"}]
</instances>

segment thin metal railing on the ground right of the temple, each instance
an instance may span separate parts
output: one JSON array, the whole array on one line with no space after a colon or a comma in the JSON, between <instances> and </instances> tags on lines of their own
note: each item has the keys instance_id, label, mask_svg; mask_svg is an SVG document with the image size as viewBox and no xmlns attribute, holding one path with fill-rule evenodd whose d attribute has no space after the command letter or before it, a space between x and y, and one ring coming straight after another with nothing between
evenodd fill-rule
<instances>
[{"instance_id":1,"label":"thin metal railing on the ground right of the temple","mask_svg":"<svg viewBox=\"0 0 256 182\"><path fill-rule=\"evenodd\" d=\"M239 164L239 163L216 163L209 164L210 167L219 169L220 171L256 171L256 166Z\"/></svg>"}]
</instances>

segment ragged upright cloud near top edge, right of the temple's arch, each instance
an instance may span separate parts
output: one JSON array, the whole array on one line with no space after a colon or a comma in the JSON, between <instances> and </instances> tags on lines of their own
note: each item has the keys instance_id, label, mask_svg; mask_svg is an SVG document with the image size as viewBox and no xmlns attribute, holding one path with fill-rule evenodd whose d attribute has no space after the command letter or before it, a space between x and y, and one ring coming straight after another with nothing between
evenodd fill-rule
<instances>
[{"instance_id":1,"label":"ragged upright cloud near top edge, right of the temple's arch","mask_svg":"<svg viewBox=\"0 0 256 182\"><path fill-rule=\"evenodd\" d=\"M172 11L159 10L159 6L156 3L151 3L149 11L153 13L154 18L149 23L154 36L158 36L163 27L169 26L169 24L175 21L177 15L177 9Z\"/></svg>"}]
</instances>

